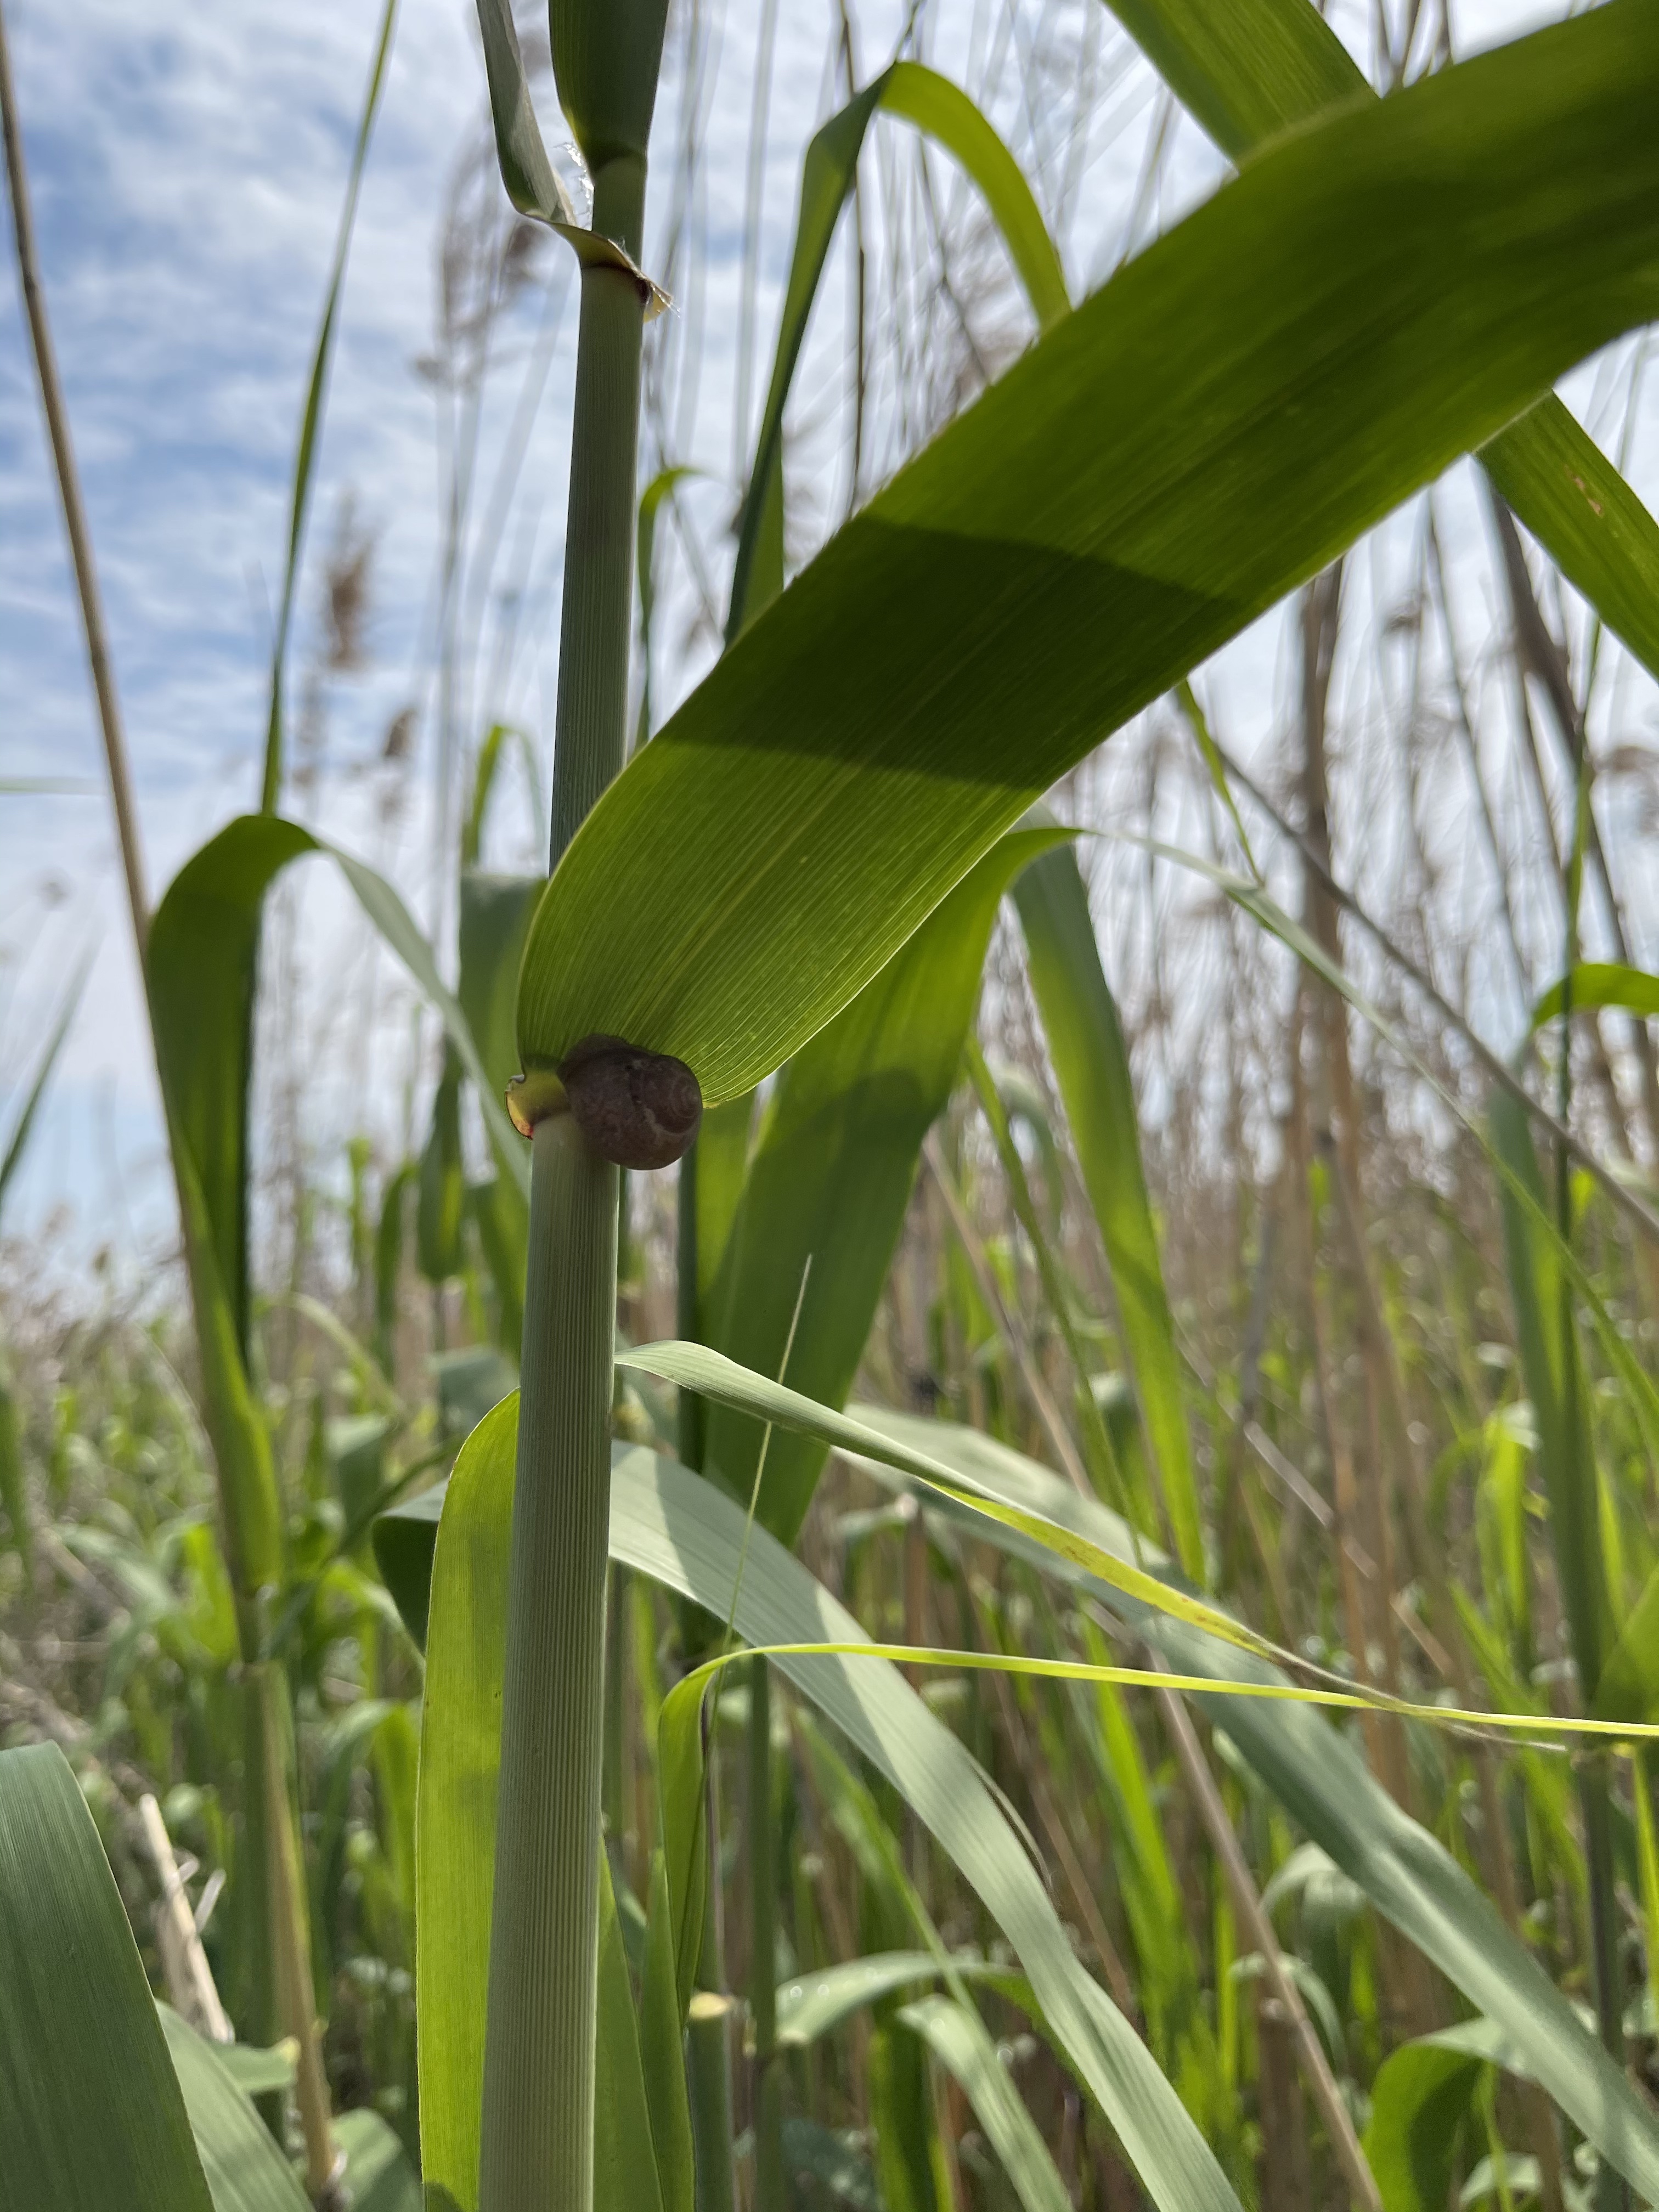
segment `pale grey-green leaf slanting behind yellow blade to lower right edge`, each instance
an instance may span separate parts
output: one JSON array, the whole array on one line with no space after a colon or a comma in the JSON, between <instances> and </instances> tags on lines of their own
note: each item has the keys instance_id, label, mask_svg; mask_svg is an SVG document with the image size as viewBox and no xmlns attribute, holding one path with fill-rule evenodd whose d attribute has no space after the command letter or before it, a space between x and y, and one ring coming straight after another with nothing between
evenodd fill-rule
<instances>
[{"instance_id":1,"label":"pale grey-green leaf slanting behind yellow blade to lower right edge","mask_svg":"<svg viewBox=\"0 0 1659 2212\"><path fill-rule=\"evenodd\" d=\"M1079 1498L1060 1475L1006 1444L951 1422L874 1407L856 1411L863 1425L880 1427L889 1440L949 1462L975 1486L995 1486L1011 1504L1071 1522L1104 1548L1115 1548L1121 1559L1135 1555L1128 1528L1113 1513L1093 1498ZM1013 1528L993 1528L991 1542L1082 1588L1091 1586L1088 1577L1079 1577L1055 1555L1044 1557ZM1144 1546L1141 1564L1172 1577L1172 1568ZM1152 1639L1166 1663L1181 1674L1283 1681L1261 1659L1146 1608L1121 1588L1097 1584L1095 1595ZM1500 2064L1531 2073L1597 2150L1644 2197L1659 2201L1659 2121L1650 2106L1440 1840L1400 1812L1347 1736L1303 1703L1248 1697L1199 1697L1199 1703L1303 1834L1486 2015L1489 2033L1506 2042Z\"/></svg>"}]
</instances>

